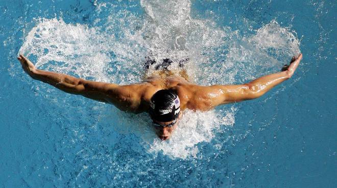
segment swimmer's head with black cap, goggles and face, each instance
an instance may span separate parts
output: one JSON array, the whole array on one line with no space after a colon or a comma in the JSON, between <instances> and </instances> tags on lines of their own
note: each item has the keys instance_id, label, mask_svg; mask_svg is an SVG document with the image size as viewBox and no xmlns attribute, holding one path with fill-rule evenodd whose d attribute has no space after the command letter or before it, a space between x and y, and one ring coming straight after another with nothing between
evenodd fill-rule
<instances>
[{"instance_id":1,"label":"swimmer's head with black cap, goggles and face","mask_svg":"<svg viewBox=\"0 0 337 188\"><path fill-rule=\"evenodd\" d=\"M181 116L177 94L168 89L157 91L150 100L150 116L159 138L170 138Z\"/></svg>"}]
</instances>

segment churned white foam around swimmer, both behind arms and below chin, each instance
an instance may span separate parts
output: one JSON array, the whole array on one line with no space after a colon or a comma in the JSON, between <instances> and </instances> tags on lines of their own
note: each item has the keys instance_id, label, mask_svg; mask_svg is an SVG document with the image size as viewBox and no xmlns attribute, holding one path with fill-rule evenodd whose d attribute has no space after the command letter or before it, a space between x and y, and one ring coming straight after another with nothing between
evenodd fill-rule
<instances>
[{"instance_id":1,"label":"churned white foam around swimmer, both behind arms and below chin","mask_svg":"<svg viewBox=\"0 0 337 188\"><path fill-rule=\"evenodd\" d=\"M92 27L65 23L62 18L37 19L20 53L35 56L36 66L43 69L119 84L142 80L142 63L147 55L158 62L189 57L187 74L192 82L203 85L244 82L272 73L299 53L296 34L276 20L253 35L242 36L229 27L217 27L211 20L192 18L189 1L140 4L145 14L139 16L113 9L109 3L95 2L98 13L109 16L96 19ZM174 62L169 68L176 67ZM149 152L171 157L197 157L198 143L210 142L221 126L235 123L234 108L221 112L187 110L172 138L161 142L147 114L130 115L109 106L104 108L101 121L115 122L110 113L117 114L115 131L134 133ZM111 112L105 112L108 110Z\"/></svg>"}]
</instances>

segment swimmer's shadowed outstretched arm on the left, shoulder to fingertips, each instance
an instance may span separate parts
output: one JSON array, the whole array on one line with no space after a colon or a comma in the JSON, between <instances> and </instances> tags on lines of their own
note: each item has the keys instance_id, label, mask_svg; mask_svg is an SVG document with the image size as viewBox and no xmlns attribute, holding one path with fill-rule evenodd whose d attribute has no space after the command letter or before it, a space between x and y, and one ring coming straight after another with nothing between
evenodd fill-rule
<instances>
[{"instance_id":1,"label":"swimmer's shadowed outstretched arm on the left, shoulder to fingertips","mask_svg":"<svg viewBox=\"0 0 337 188\"><path fill-rule=\"evenodd\" d=\"M135 111L138 107L137 104L140 103L136 95L136 91L139 90L139 84L119 86L117 84L83 80L65 74L36 69L34 64L23 55L20 55L17 59L20 61L23 70L33 79L53 85L67 93L111 103L122 110Z\"/></svg>"}]
</instances>

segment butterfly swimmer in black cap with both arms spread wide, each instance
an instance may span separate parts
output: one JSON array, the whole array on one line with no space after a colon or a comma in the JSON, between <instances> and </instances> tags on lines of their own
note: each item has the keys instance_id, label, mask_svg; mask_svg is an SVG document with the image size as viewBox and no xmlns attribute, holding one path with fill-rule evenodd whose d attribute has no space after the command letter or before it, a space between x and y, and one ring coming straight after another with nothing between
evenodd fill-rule
<instances>
[{"instance_id":1,"label":"butterfly swimmer in black cap with both arms spread wide","mask_svg":"<svg viewBox=\"0 0 337 188\"><path fill-rule=\"evenodd\" d=\"M110 103L127 112L148 112L156 134L161 140L166 140L177 128L183 110L206 111L222 104L259 98L293 76L302 54L293 57L290 64L284 65L279 73L263 76L245 84L211 86L192 84L186 79L186 74L174 76L167 68L141 83L117 85L93 82L37 69L23 55L19 55L17 59L23 70L33 79L53 85L62 91ZM167 64L171 60L163 62ZM154 63L151 61L150 65Z\"/></svg>"}]
</instances>

